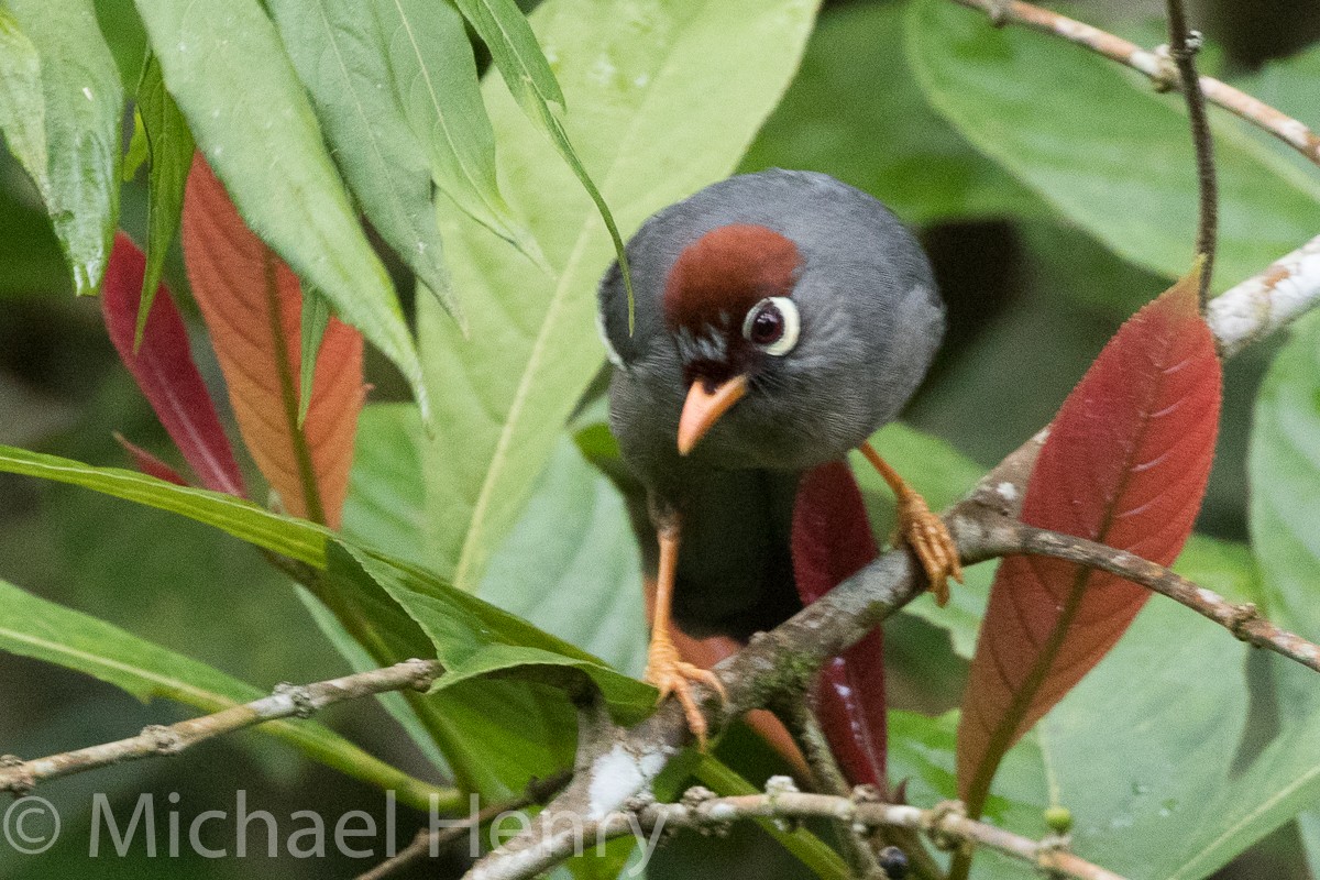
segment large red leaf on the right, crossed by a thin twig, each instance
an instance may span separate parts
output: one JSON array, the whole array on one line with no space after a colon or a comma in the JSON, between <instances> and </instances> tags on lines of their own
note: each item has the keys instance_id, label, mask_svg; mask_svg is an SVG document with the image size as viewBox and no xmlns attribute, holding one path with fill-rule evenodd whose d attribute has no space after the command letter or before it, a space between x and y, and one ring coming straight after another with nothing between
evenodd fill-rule
<instances>
[{"instance_id":1,"label":"large red leaf on the right, crossed by a thin twig","mask_svg":"<svg viewBox=\"0 0 1320 880\"><path fill-rule=\"evenodd\" d=\"M1220 360L1197 314L1199 274L1138 311L1064 401L1027 484L1022 521L1170 565L1205 493ZM1086 674L1150 592L1044 557L1008 557L958 724L958 788L981 814L1005 752Z\"/></svg>"}]
</instances>

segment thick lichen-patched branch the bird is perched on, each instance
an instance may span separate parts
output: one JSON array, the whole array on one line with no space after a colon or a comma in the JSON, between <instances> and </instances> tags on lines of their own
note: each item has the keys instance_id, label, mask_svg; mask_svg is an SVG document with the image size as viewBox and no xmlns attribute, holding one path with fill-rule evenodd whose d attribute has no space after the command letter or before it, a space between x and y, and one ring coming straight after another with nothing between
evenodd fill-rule
<instances>
[{"instance_id":1,"label":"thick lichen-patched branch the bird is perched on","mask_svg":"<svg viewBox=\"0 0 1320 880\"><path fill-rule=\"evenodd\" d=\"M1022 5L1018 3L1012 8ZM1317 303L1320 237L1212 301L1206 321L1221 352L1228 356ZM985 561L994 555L991 551L1002 550L1003 536L995 529L1002 528L1005 517L1016 519L1027 479L1048 433L1047 426L1011 453L945 513L965 563ZM826 657L838 654L917 598L923 586L908 553L891 550L774 631L752 637L747 648L715 668L729 698L719 707L708 705L711 730L721 726L722 715L737 716L766 706L779 694L803 690ZM1251 633L1257 628L1262 628L1263 635L1262 624L1266 621L1238 624L1234 635ZM595 734L591 747L579 743L578 772L568 788L527 833L487 854L466 879L531 876L511 865L541 864L548 852L565 844L562 825L556 827L553 818L599 821L619 810L651 785L689 739L681 708L669 702L631 730ZM572 846L572 839L568 843Z\"/></svg>"}]
</instances>

